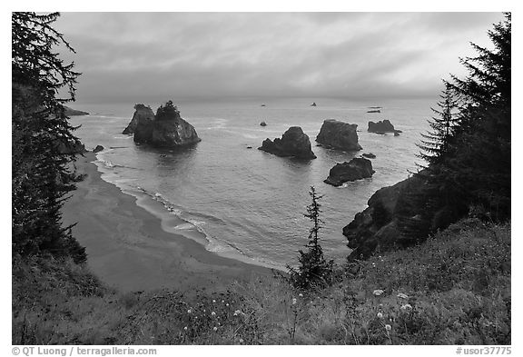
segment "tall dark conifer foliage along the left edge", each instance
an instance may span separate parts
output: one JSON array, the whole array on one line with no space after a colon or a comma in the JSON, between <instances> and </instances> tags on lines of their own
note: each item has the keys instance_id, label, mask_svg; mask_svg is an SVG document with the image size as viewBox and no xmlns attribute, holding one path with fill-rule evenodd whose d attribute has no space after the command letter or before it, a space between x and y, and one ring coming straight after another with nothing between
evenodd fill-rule
<instances>
[{"instance_id":1,"label":"tall dark conifer foliage along the left edge","mask_svg":"<svg viewBox=\"0 0 523 357\"><path fill-rule=\"evenodd\" d=\"M63 104L74 100L79 74L53 51L56 45L73 50L51 26L58 16L12 15L13 253L48 252L84 262L84 248L61 223L60 208L75 180L67 169L74 154L61 147L78 144ZM58 97L62 88L67 98Z\"/></svg>"}]
</instances>

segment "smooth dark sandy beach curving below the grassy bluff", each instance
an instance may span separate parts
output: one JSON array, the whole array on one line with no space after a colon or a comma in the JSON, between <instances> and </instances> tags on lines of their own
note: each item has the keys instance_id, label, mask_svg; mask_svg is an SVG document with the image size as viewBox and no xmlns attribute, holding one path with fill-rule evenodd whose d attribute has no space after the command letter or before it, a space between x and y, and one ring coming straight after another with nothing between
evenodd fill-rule
<instances>
[{"instance_id":1,"label":"smooth dark sandy beach curving below the grassy bluff","mask_svg":"<svg viewBox=\"0 0 523 357\"><path fill-rule=\"evenodd\" d=\"M77 172L86 176L64 204L63 219L64 224L77 223L74 237L86 247L88 266L104 283L122 291L222 290L253 274L271 274L164 231L160 218L101 178L95 159L93 153L78 157Z\"/></svg>"}]
</instances>

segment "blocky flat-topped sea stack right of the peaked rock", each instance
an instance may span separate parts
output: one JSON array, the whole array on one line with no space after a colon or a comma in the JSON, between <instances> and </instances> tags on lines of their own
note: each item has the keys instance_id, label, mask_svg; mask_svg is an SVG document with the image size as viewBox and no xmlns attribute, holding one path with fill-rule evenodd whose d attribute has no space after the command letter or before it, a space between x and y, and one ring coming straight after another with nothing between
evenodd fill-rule
<instances>
[{"instance_id":1,"label":"blocky flat-topped sea stack right of the peaked rock","mask_svg":"<svg viewBox=\"0 0 523 357\"><path fill-rule=\"evenodd\" d=\"M347 151L361 150L361 146L358 144L357 128L357 124L327 119L321 125L320 134L316 136L316 141L335 149Z\"/></svg>"}]
</instances>

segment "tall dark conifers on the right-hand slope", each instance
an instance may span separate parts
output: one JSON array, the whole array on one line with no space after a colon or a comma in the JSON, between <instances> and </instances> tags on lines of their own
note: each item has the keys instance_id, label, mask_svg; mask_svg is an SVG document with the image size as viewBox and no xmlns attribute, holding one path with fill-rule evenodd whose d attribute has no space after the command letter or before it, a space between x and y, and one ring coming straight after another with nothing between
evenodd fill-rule
<instances>
[{"instance_id":1,"label":"tall dark conifers on the right-hand slope","mask_svg":"<svg viewBox=\"0 0 523 357\"><path fill-rule=\"evenodd\" d=\"M510 21L506 14L488 31L492 50L472 44L479 55L460 60L469 71L465 79L453 75L445 82L431 130L419 144L428 163L416 174L423 184L405 193L399 215L411 242L474 207L488 221L510 218Z\"/></svg>"}]
</instances>

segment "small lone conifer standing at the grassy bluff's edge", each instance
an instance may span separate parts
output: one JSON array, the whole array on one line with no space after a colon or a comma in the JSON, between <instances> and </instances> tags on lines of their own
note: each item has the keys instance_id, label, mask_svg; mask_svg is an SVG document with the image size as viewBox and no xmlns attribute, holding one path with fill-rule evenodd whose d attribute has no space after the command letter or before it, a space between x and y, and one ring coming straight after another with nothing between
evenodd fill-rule
<instances>
[{"instance_id":1,"label":"small lone conifer standing at the grassy bluff's edge","mask_svg":"<svg viewBox=\"0 0 523 357\"><path fill-rule=\"evenodd\" d=\"M292 285L301 289L329 284L332 276L332 261L327 262L325 260L318 237L321 223L323 223L320 218L321 204L319 201L323 196L316 193L314 186L311 186L309 194L311 195L312 203L307 206L307 213L303 214L312 222L312 227L309 231L309 243L306 245L308 250L307 252L299 251L300 266L298 269L288 266Z\"/></svg>"}]
</instances>

